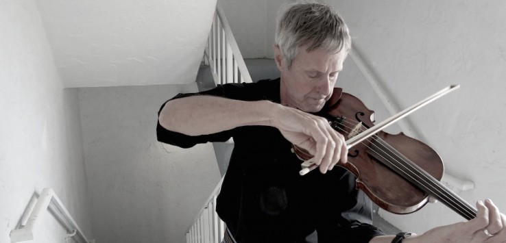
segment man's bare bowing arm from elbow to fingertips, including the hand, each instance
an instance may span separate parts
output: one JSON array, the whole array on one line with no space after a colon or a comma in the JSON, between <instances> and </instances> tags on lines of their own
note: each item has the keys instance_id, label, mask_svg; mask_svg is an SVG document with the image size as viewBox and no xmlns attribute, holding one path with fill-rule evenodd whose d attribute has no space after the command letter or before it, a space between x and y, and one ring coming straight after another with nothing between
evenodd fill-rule
<instances>
[{"instance_id":1,"label":"man's bare bowing arm from elbow to fingertips, including the hand","mask_svg":"<svg viewBox=\"0 0 506 243\"><path fill-rule=\"evenodd\" d=\"M160 126L188 136L217 133L248 125L276 127L292 144L315 155L320 172L346 163L344 137L325 118L271 101L239 101L195 95L168 101L160 110Z\"/></svg>"}]
</instances>

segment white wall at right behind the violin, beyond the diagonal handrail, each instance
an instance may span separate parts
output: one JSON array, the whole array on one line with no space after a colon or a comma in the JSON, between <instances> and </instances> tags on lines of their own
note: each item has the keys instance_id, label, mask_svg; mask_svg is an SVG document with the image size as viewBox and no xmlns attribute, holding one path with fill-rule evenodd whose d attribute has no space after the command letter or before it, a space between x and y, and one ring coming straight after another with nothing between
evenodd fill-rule
<instances>
[{"instance_id":1,"label":"white wall at right behind the violin, beyond the diagonal handrail","mask_svg":"<svg viewBox=\"0 0 506 243\"><path fill-rule=\"evenodd\" d=\"M459 193L491 198L506 210L506 16L504 1L330 1L343 14L391 101L407 107L447 86L461 89L409 117L438 151L446 171L470 179ZM368 89L364 86L364 89ZM440 203L389 220L422 232L462 220Z\"/></svg>"}]
</instances>

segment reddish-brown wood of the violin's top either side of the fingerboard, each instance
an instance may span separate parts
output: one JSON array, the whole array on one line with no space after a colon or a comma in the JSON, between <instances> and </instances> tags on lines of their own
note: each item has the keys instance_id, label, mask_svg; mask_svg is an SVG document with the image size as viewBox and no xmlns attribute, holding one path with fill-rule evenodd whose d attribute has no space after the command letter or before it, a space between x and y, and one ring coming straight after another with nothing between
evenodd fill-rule
<instances>
[{"instance_id":1,"label":"reddish-brown wood of the violin's top either side of the fingerboard","mask_svg":"<svg viewBox=\"0 0 506 243\"><path fill-rule=\"evenodd\" d=\"M374 126L374 112L368 110L357 97L346 92L341 93L341 99L330 107L328 114L335 117L344 116L357 123L363 123L365 127ZM345 138L350 134L350 126L337 126L341 127L339 132ZM403 133L392 135L379 131L376 136L435 179L442 178L444 172L442 159L430 146ZM371 148L378 147L374 145L375 143L376 138L368 138L348 152L348 163L344 166L357 176L357 188L363 190L374 203L389 212L409 214L420 209L427 203L429 194L385 166L382 157L378 158L370 153Z\"/></svg>"}]
</instances>

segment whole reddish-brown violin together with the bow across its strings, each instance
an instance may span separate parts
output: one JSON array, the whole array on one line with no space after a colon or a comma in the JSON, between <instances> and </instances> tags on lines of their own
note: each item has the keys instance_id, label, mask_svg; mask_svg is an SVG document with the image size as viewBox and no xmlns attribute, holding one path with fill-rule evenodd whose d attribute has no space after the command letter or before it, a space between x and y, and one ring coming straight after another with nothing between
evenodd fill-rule
<instances>
[{"instance_id":1,"label":"whole reddish-brown violin together with the bow across its strings","mask_svg":"<svg viewBox=\"0 0 506 243\"><path fill-rule=\"evenodd\" d=\"M418 109L420 104L413 107ZM401 112L402 117L413 112L413 107ZM394 214L410 214L433 196L467 220L476 217L477 209L440 182L444 165L437 152L402 132L394 135L381 131L386 125L376 128L374 111L357 97L334 88L328 104L317 115L326 118L333 129L343 134L348 145L348 141L363 133L372 133L348 147L348 163L343 166L357 177L357 188L379 207ZM399 116L391 120L398 120ZM301 175L317 167L311 161L313 155L304 149L293 145L293 152L305 161Z\"/></svg>"}]
</instances>

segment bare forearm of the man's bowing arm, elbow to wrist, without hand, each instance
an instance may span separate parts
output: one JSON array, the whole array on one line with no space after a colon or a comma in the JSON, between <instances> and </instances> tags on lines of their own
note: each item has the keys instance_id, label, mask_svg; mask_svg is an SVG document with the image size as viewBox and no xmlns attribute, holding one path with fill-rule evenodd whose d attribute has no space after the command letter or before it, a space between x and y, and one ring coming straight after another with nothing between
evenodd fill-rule
<instances>
[{"instance_id":1,"label":"bare forearm of the man's bowing arm, elbow to wrist, without hand","mask_svg":"<svg viewBox=\"0 0 506 243\"><path fill-rule=\"evenodd\" d=\"M160 125L190 136L217 133L245 125L270 125L269 114L278 104L269 101L237 101L212 96L193 96L167 102Z\"/></svg>"}]
</instances>

